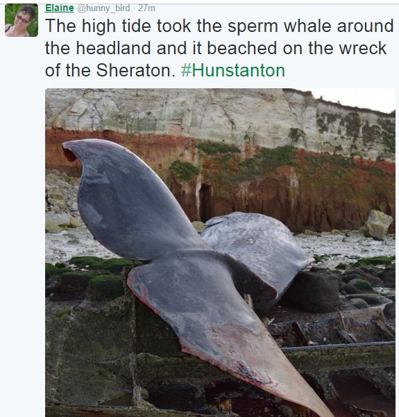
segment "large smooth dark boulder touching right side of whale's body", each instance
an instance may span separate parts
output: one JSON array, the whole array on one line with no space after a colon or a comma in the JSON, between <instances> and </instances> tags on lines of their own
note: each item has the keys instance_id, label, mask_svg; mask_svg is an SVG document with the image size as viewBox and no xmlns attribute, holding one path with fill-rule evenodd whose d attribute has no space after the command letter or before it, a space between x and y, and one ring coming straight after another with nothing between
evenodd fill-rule
<instances>
[{"instance_id":1,"label":"large smooth dark boulder touching right side of whale's body","mask_svg":"<svg viewBox=\"0 0 399 417\"><path fill-rule=\"evenodd\" d=\"M294 278L282 304L312 313L337 311L339 306L338 278L328 271L300 272Z\"/></svg>"}]
</instances>

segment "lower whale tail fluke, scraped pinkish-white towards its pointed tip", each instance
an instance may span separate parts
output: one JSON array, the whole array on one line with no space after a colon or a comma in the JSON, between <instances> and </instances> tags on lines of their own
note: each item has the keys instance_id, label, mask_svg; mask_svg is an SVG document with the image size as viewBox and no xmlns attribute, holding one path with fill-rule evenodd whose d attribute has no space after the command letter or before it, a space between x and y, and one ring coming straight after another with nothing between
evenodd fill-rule
<instances>
[{"instance_id":1,"label":"lower whale tail fluke, scraped pinkish-white towards its pointed tip","mask_svg":"<svg viewBox=\"0 0 399 417\"><path fill-rule=\"evenodd\" d=\"M230 256L186 250L134 268L128 286L172 327L183 352L332 417L235 289L237 273L244 270L237 270Z\"/></svg>"}]
</instances>

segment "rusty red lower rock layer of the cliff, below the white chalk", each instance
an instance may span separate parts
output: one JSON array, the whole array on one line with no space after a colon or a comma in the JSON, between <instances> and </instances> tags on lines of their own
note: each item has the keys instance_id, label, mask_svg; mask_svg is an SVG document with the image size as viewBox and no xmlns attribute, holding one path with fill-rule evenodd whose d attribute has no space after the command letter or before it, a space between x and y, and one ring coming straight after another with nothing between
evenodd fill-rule
<instances>
[{"instance_id":1,"label":"rusty red lower rock layer of the cliff, below the white chalk","mask_svg":"<svg viewBox=\"0 0 399 417\"><path fill-rule=\"evenodd\" d=\"M46 167L78 176L78 162L69 163L61 147L65 140L78 138L113 140L143 158L167 183L190 220L244 211L271 215L293 231L329 231L358 229L372 209L395 215L395 164L386 161L297 149L291 162L245 177L240 163L260 149L246 148L238 156L226 157L201 154L196 140L182 136L49 129ZM201 173L179 180L169 170L176 160L197 165ZM394 231L394 222L389 230Z\"/></svg>"}]
</instances>

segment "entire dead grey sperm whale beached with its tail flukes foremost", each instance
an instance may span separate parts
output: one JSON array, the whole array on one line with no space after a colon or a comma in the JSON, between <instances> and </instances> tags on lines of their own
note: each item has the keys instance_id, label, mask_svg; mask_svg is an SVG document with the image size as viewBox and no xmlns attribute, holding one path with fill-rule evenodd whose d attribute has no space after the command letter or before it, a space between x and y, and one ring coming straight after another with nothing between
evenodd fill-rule
<instances>
[{"instance_id":1,"label":"entire dead grey sperm whale beached with its tail flukes foremost","mask_svg":"<svg viewBox=\"0 0 399 417\"><path fill-rule=\"evenodd\" d=\"M252 216L240 232L246 246L240 252L238 238L227 234L213 239L207 234L223 223L230 231L237 229L240 217L246 222L246 213L212 220L201 237L169 188L133 152L95 138L64 142L62 148L69 161L78 159L83 167L78 209L87 229L118 256L143 262L129 272L128 288L173 329L182 352L300 404L316 416L333 416L244 300L250 294L258 306L271 305L288 285L279 287L275 282L278 276L286 282L295 269L290 263L295 250L287 230L269 219L260 218L257 224ZM265 237L268 224L273 236L280 236L278 245L273 246L274 238ZM227 247L217 250L223 240L234 242L232 254ZM262 247L265 259L273 250L271 258L278 265L273 270L269 263L271 279L265 271L268 263L257 261ZM299 251L293 262L303 268L309 257Z\"/></svg>"}]
</instances>

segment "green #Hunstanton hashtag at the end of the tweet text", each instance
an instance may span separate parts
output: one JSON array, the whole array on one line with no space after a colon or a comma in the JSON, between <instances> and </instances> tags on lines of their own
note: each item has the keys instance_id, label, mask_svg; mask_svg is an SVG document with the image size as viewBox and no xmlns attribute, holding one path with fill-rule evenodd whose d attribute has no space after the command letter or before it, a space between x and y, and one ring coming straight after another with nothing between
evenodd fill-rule
<instances>
[{"instance_id":1,"label":"green #Hunstanton hashtag at the end of the tweet text","mask_svg":"<svg viewBox=\"0 0 399 417\"><path fill-rule=\"evenodd\" d=\"M255 65L247 67L244 65L214 66L204 63L185 63L181 67L182 76L248 76L248 77L273 77L285 76L285 67L266 67L266 65Z\"/></svg>"}]
</instances>

